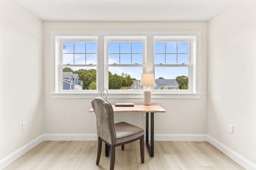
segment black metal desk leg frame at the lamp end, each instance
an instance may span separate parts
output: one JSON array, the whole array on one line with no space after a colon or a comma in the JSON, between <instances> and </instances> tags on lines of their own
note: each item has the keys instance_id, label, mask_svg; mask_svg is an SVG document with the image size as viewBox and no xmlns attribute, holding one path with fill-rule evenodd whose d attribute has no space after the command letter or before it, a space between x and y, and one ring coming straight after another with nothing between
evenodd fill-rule
<instances>
[{"instance_id":1,"label":"black metal desk leg frame at the lamp end","mask_svg":"<svg viewBox=\"0 0 256 170\"><path fill-rule=\"evenodd\" d=\"M150 145L148 142L148 112L146 112L146 144L151 157L154 156L154 112L150 114Z\"/></svg>"}]
</instances>

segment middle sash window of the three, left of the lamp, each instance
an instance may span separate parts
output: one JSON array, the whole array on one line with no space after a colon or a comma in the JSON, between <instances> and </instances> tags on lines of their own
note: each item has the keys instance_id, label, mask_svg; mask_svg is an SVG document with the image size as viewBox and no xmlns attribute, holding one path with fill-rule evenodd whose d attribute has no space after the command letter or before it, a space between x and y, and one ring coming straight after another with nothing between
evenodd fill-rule
<instances>
[{"instance_id":1,"label":"middle sash window of the three, left of the lamp","mask_svg":"<svg viewBox=\"0 0 256 170\"><path fill-rule=\"evenodd\" d=\"M145 70L146 37L106 37L109 90L142 90L136 86Z\"/></svg>"}]
</instances>

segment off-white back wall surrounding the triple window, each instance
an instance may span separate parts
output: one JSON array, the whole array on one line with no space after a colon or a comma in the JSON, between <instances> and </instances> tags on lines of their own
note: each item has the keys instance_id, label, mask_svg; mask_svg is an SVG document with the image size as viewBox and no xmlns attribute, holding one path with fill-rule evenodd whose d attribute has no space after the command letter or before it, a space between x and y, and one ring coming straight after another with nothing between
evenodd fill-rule
<instances>
[{"instance_id":1,"label":"off-white back wall surrounding the triple window","mask_svg":"<svg viewBox=\"0 0 256 170\"><path fill-rule=\"evenodd\" d=\"M201 99L153 99L166 109L155 115L157 134L206 134L207 22L61 22L44 21L44 133L96 134L93 99L51 99L50 31L201 31ZM142 103L142 99L109 99L115 102ZM125 120L141 127L142 113L118 113L115 121Z\"/></svg>"}]
</instances>

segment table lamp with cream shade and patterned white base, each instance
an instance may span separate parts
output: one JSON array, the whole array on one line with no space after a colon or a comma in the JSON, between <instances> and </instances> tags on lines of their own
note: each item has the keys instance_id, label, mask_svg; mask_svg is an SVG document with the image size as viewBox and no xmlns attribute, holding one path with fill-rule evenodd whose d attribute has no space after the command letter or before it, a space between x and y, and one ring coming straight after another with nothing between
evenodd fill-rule
<instances>
[{"instance_id":1,"label":"table lamp with cream shade and patterned white base","mask_svg":"<svg viewBox=\"0 0 256 170\"><path fill-rule=\"evenodd\" d=\"M155 85L154 74L150 74L150 73L141 74L140 86L147 86L147 88L143 92L144 105L151 105L151 91L148 88L148 86L154 86L154 85Z\"/></svg>"}]
</instances>

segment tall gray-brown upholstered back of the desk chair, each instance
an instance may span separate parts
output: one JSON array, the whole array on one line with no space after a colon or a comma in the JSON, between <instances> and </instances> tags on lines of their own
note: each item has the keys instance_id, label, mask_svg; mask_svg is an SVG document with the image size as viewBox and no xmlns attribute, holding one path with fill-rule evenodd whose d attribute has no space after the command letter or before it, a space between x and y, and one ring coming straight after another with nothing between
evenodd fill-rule
<instances>
[{"instance_id":1,"label":"tall gray-brown upholstered back of the desk chair","mask_svg":"<svg viewBox=\"0 0 256 170\"><path fill-rule=\"evenodd\" d=\"M97 135L109 144L116 143L116 132L114 126L114 111L111 104L104 98L95 98L92 108L96 114Z\"/></svg>"}]
</instances>

